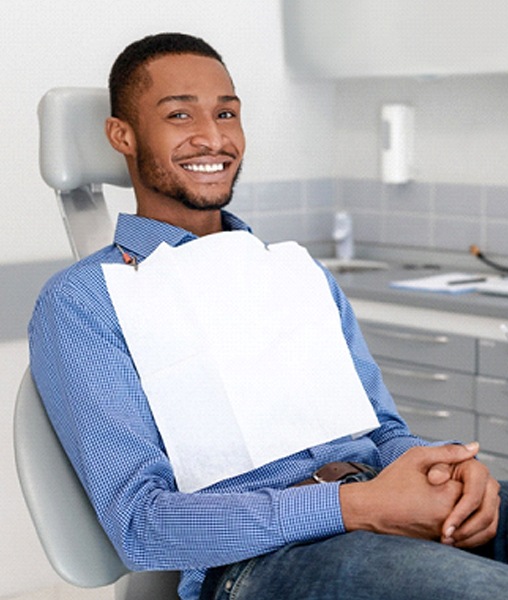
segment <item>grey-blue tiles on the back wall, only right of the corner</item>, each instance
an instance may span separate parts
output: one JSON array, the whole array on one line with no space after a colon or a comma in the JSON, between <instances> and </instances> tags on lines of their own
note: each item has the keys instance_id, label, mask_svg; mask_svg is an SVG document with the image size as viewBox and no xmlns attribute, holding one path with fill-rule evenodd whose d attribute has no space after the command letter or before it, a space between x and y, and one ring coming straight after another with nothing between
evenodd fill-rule
<instances>
[{"instance_id":1,"label":"grey-blue tiles on the back wall, only right of the corner","mask_svg":"<svg viewBox=\"0 0 508 600\"><path fill-rule=\"evenodd\" d=\"M508 188L417 182L394 186L361 179L337 185L358 241L456 252L477 244L508 255ZM375 198L367 201L373 190Z\"/></svg>"}]
</instances>

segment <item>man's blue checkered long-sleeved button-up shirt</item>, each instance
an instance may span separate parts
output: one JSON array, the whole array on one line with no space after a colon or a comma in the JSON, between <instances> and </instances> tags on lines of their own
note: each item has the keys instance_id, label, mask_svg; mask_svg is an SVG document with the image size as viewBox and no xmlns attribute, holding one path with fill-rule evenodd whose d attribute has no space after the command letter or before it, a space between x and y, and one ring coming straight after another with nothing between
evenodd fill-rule
<instances>
[{"instance_id":1,"label":"man's blue checkered long-sleeved button-up shirt","mask_svg":"<svg viewBox=\"0 0 508 600\"><path fill-rule=\"evenodd\" d=\"M225 211L223 226L248 230ZM163 241L178 246L193 239L178 227L133 215L120 215L115 233L115 242L138 261ZM37 300L29 339L32 373L49 417L130 569L182 570L181 597L197 599L208 567L344 532L339 484L292 484L330 461L383 467L424 444L398 416L348 301L325 271L380 427L200 492L179 492L103 278L101 264L121 262L111 245L54 276Z\"/></svg>"}]
</instances>

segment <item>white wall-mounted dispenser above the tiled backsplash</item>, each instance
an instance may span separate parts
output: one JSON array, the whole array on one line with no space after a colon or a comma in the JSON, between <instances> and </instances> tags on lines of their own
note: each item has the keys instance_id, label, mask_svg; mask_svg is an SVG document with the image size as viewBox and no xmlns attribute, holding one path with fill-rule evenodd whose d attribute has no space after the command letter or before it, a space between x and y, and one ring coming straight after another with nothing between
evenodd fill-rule
<instances>
[{"instance_id":1,"label":"white wall-mounted dispenser above the tiled backsplash","mask_svg":"<svg viewBox=\"0 0 508 600\"><path fill-rule=\"evenodd\" d=\"M407 183L413 178L414 108L385 104L381 108L381 180Z\"/></svg>"}]
</instances>

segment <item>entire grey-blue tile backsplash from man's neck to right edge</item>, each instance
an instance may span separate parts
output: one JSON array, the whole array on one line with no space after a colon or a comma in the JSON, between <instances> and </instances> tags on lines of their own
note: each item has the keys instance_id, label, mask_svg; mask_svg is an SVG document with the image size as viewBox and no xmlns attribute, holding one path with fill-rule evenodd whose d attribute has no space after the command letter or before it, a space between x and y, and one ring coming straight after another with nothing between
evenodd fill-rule
<instances>
[{"instance_id":1,"label":"entire grey-blue tile backsplash from man's neck to right edge","mask_svg":"<svg viewBox=\"0 0 508 600\"><path fill-rule=\"evenodd\" d=\"M296 239L333 253L336 210L353 218L355 241L390 247L508 255L508 187L369 179L238 184L233 212L270 242Z\"/></svg>"}]
</instances>

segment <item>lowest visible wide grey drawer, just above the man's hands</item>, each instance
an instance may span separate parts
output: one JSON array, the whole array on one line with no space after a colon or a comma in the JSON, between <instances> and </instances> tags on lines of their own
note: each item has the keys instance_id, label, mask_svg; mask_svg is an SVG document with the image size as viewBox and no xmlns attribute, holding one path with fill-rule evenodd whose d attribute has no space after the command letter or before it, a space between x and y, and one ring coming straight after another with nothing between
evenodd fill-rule
<instances>
[{"instance_id":1,"label":"lowest visible wide grey drawer, just above the man's hands","mask_svg":"<svg viewBox=\"0 0 508 600\"><path fill-rule=\"evenodd\" d=\"M412 433L428 440L476 439L475 416L472 412L450 409L447 406L414 402L395 397L401 417Z\"/></svg>"}]
</instances>

